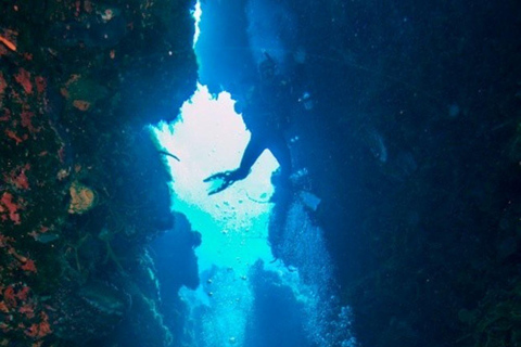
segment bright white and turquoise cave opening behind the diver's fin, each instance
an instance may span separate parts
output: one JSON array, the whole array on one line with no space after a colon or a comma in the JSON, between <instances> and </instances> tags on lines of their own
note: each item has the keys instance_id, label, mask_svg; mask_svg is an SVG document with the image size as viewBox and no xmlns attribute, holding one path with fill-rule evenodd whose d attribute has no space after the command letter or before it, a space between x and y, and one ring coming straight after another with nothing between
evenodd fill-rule
<instances>
[{"instance_id":1,"label":"bright white and turquoise cave opening behind the diver's fin","mask_svg":"<svg viewBox=\"0 0 521 347\"><path fill-rule=\"evenodd\" d=\"M274 259L267 224L270 176L278 164L266 152L247 179L208 196L211 184L203 182L204 178L237 166L250 134L233 112L230 94L214 98L201 85L178 120L160 125L156 136L165 150L180 159L169 158L173 209L187 216L202 233L195 250L201 284L195 291L182 288L180 295L190 318L200 321L200 338L207 345L215 340L241 343L253 300L250 268L258 259L265 264ZM198 313L203 308L204 317Z\"/></svg>"}]
</instances>

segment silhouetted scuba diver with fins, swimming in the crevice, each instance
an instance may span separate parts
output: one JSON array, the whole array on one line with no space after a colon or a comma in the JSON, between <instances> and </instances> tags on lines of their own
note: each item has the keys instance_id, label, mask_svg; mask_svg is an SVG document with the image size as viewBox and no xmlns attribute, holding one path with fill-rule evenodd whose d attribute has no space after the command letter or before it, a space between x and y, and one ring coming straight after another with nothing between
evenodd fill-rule
<instances>
[{"instance_id":1,"label":"silhouetted scuba diver with fins, swimming in the crevice","mask_svg":"<svg viewBox=\"0 0 521 347\"><path fill-rule=\"evenodd\" d=\"M264 55L258 67L258 81L242 102L236 103L236 112L243 114L246 128L251 131L250 142L237 169L218 172L204 180L221 181L208 195L219 193L234 182L245 179L265 150L271 152L280 166L276 184L289 187L292 163L284 132L290 125L292 91L290 83L277 74L274 59L266 52Z\"/></svg>"}]
</instances>

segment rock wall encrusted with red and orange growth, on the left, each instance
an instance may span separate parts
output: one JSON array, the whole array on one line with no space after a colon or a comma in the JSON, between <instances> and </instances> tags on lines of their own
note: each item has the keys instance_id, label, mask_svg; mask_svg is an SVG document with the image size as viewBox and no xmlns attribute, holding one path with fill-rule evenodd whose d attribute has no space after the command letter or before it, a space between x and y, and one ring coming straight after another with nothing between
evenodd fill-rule
<instances>
[{"instance_id":1,"label":"rock wall encrusted with red and orange growth, on the left","mask_svg":"<svg viewBox=\"0 0 521 347\"><path fill-rule=\"evenodd\" d=\"M0 4L0 345L109 346L149 334L143 312L168 343L143 259L174 226L169 176L145 127L195 88L192 7Z\"/></svg>"}]
</instances>

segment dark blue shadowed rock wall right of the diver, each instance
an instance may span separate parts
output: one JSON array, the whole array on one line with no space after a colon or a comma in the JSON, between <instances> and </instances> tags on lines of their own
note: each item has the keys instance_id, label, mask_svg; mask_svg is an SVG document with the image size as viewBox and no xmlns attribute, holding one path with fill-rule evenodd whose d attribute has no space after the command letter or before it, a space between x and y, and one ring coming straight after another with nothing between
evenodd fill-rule
<instances>
[{"instance_id":1,"label":"dark blue shadowed rock wall right of the diver","mask_svg":"<svg viewBox=\"0 0 521 347\"><path fill-rule=\"evenodd\" d=\"M295 152L360 343L519 344L519 5L288 2Z\"/></svg>"}]
</instances>

